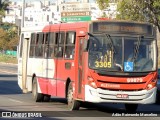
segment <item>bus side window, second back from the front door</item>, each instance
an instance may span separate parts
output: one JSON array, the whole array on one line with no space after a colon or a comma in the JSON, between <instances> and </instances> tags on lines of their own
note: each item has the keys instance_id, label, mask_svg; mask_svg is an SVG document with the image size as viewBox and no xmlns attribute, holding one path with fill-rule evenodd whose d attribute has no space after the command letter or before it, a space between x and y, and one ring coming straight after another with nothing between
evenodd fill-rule
<instances>
[{"instance_id":1,"label":"bus side window, second back from the front door","mask_svg":"<svg viewBox=\"0 0 160 120\"><path fill-rule=\"evenodd\" d=\"M65 32L56 33L56 41L54 47L54 56L58 58L63 57L64 52Z\"/></svg>"}]
</instances>

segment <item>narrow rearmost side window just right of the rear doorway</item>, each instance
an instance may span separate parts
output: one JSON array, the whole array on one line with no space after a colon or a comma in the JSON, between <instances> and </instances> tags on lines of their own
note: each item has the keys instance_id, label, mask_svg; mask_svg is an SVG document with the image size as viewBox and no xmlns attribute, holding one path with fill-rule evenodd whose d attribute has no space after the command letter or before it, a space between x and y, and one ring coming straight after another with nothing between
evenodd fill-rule
<instances>
[{"instance_id":1,"label":"narrow rearmost side window just right of the rear doorway","mask_svg":"<svg viewBox=\"0 0 160 120\"><path fill-rule=\"evenodd\" d=\"M31 41L30 41L30 51L29 51L29 57L34 57L35 55L35 46L36 46L36 42L35 39L36 38L36 34L32 33L31 34Z\"/></svg>"}]
</instances>

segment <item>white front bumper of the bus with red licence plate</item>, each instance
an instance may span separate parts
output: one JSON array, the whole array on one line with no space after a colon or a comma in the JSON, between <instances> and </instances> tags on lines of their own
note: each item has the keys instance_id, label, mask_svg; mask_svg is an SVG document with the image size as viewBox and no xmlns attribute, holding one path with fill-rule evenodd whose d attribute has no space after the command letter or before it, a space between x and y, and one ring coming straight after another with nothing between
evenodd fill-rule
<instances>
[{"instance_id":1,"label":"white front bumper of the bus with red licence plate","mask_svg":"<svg viewBox=\"0 0 160 120\"><path fill-rule=\"evenodd\" d=\"M141 91L111 91L100 88L92 88L85 85L85 101L93 103L134 103L152 104L156 101L156 90ZM127 97L126 97L127 96Z\"/></svg>"}]
</instances>

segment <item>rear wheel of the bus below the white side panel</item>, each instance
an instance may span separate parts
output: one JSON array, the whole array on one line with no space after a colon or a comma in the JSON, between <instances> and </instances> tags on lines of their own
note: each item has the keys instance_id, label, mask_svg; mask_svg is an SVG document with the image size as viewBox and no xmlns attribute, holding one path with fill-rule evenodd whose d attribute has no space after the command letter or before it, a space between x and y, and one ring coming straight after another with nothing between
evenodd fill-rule
<instances>
[{"instance_id":1,"label":"rear wheel of the bus below the white side panel","mask_svg":"<svg viewBox=\"0 0 160 120\"><path fill-rule=\"evenodd\" d=\"M37 87L37 79L34 77L33 83L32 83L32 96L35 102L42 102L44 99L44 95L42 93L38 93L38 87Z\"/></svg>"}]
</instances>

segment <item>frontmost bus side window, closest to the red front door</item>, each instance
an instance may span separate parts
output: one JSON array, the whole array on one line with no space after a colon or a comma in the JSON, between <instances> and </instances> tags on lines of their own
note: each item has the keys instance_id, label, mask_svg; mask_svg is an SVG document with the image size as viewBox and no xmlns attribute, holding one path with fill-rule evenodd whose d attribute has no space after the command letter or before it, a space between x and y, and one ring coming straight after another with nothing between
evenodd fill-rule
<instances>
[{"instance_id":1,"label":"frontmost bus side window, closest to the red front door","mask_svg":"<svg viewBox=\"0 0 160 120\"><path fill-rule=\"evenodd\" d=\"M67 32L65 44L65 59L74 59L75 53L75 32Z\"/></svg>"}]
</instances>

